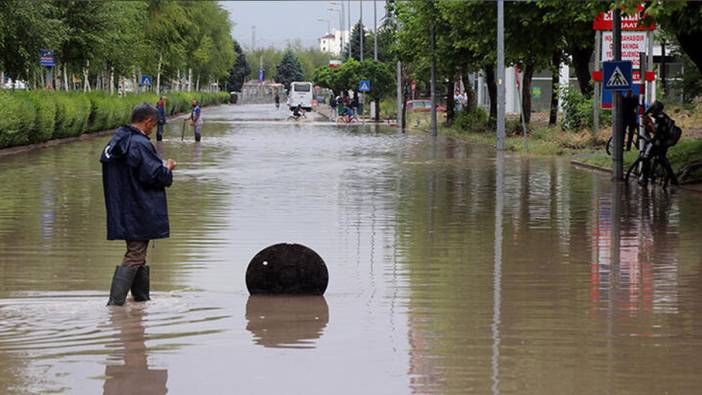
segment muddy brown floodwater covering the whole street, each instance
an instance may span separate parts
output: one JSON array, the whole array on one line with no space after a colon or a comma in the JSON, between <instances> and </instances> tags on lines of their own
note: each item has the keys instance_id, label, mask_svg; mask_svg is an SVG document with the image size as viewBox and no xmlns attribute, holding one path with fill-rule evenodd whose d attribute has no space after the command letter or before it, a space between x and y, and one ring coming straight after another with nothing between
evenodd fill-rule
<instances>
[{"instance_id":1,"label":"muddy brown floodwater covering the whole street","mask_svg":"<svg viewBox=\"0 0 702 395\"><path fill-rule=\"evenodd\" d=\"M108 308L108 136L0 158L0 393L694 394L702 199L272 105L173 120L152 301ZM249 297L296 242L323 297Z\"/></svg>"}]
</instances>

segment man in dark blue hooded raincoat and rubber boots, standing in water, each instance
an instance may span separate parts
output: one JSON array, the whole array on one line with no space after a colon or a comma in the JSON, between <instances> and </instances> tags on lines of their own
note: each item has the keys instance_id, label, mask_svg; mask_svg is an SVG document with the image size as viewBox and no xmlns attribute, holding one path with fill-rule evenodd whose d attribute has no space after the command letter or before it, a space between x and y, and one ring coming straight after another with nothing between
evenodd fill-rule
<instances>
[{"instance_id":1,"label":"man in dark blue hooded raincoat and rubber boots, standing in water","mask_svg":"<svg viewBox=\"0 0 702 395\"><path fill-rule=\"evenodd\" d=\"M150 300L149 240L169 236L166 187L173 183L176 162L168 159L164 164L149 139L158 119L153 106L136 106L130 124L117 129L100 157L107 239L127 243L112 278L108 305L123 305L130 289L135 301Z\"/></svg>"}]
</instances>

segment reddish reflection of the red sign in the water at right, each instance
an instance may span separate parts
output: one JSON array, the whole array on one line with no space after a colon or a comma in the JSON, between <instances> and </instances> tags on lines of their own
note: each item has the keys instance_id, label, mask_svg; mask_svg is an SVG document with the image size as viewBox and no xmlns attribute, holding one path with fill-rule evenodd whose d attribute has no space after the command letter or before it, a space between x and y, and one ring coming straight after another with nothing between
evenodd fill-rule
<instances>
[{"instance_id":1,"label":"reddish reflection of the red sign in the water at right","mask_svg":"<svg viewBox=\"0 0 702 395\"><path fill-rule=\"evenodd\" d=\"M679 232L671 196L621 184L614 184L610 194L593 196L593 317L603 309L610 319L677 313ZM640 327L635 333L651 329Z\"/></svg>"}]
</instances>

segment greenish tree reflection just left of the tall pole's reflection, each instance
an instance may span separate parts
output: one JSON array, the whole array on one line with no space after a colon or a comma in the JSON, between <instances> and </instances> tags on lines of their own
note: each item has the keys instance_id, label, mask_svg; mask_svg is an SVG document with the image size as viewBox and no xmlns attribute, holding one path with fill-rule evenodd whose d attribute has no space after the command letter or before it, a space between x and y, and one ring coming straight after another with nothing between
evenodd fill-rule
<instances>
[{"instance_id":1,"label":"greenish tree reflection just left of the tall pole's reflection","mask_svg":"<svg viewBox=\"0 0 702 395\"><path fill-rule=\"evenodd\" d=\"M481 150L467 145L438 141L418 150L428 161L401 173L395 242L409 269L411 386L487 393L491 346L475 339L490 337L494 172ZM484 380L466 370L483 372Z\"/></svg>"}]
</instances>

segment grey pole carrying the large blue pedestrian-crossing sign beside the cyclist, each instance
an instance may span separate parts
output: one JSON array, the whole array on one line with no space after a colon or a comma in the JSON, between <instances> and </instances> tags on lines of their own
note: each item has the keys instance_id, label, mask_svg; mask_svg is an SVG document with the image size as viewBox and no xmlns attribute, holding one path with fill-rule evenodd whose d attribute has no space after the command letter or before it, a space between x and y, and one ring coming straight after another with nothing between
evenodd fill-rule
<instances>
[{"instance_id":1,"label":"grey pole carrying the large blue pedestrian-crossing sign beside the cyclist","mask_svg":"<svg viewBox=\"0 0 702 395\"><path fill-rule=\"evenodd\" d=\"M613 11L612 24L612 50L614 61L622 60L622 9L617 7ZM613 180L624 180L624 131L622 128L622 95L619 91L613 92L614 108L612 111L612 173Z\"/></svg>"}]
</instances>

